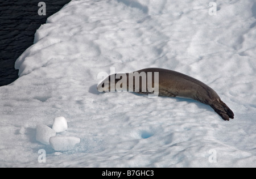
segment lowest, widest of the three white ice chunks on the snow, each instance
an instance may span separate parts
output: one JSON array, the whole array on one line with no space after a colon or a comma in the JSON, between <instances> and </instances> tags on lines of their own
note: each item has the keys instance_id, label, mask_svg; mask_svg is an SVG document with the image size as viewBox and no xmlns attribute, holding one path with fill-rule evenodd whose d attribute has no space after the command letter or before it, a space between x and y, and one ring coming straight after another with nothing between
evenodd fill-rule
<instances>
[{"instance_id":1,"label":"lowest, widest of the three white ice chunks on the snow","mask_svg":"<svg viewBox=\"0 0 256 179\"><path fill-rule=\"evenodd\" d=\"M67 136L55 136L49 139L49 143L55 151L68 151L80 143L80 138L67 137Z\"/></svg>"}]
</instances>

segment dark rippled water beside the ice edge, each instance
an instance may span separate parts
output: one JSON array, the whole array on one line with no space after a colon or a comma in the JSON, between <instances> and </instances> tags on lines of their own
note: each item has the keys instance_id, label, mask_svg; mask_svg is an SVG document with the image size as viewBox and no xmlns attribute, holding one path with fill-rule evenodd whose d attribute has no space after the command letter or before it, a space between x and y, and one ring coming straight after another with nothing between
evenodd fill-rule
<instances>
[{"instance_id":1,"label":"dark rippled water beside the ice edge","mask_svg":"<svg viewBox=\"0 0 256 179\"><path fill-rule=\"evenodd\" d=\"M36 29L70 1L0 0L0 86L18 78L15 61L33 44ZM46 15L38 14L39 2L46 3Z\"/></svg>"}]
</instances>

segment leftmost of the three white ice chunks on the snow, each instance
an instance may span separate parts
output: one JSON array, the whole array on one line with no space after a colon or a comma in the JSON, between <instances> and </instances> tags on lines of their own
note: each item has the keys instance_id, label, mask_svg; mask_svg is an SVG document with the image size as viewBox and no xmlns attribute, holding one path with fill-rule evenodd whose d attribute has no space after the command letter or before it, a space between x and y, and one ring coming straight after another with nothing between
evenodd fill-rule
<instances>
[{"instance_id":1,"label":"leftmost of the three white ice chunks on the snow","mask_svg":"<svg viewBox=\"0 0 256 179\"><path fill-rule=\"evenodd\" d=\"M49 144L49 138L56 135L55 130L44 124L36 125L36 140L43 144Z\"/></svg>"}]
</instances>

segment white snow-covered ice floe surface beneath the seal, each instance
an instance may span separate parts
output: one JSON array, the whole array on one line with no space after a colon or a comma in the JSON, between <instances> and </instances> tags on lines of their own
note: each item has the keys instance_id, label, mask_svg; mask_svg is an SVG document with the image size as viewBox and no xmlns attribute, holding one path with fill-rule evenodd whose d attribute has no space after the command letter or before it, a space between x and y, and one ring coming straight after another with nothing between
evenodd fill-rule
<instances>
[{"instance_id":1,"label":"white snow-covered ice floe surface beneath the seal","mask_svg":"<svg viewBox=\"0 0 256 179\"><path fill-rule=\"evenodd\" d=\"M216 16L209 2L71 1L49 17L16 61L19 79L0 87L0 167L256 167L256 2L215 1ZM235 118L189 99L99 93L110 67L190 75ZM81 139L73 150L36 141L56 116Z\"/></svg>"}]
</instances>

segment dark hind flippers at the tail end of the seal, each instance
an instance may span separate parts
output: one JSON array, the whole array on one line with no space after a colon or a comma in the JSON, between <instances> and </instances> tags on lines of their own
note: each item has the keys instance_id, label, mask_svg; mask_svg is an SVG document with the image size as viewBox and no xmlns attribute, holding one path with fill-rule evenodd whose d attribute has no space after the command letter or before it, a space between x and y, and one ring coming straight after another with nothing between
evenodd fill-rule
<instances>
[{"instance_id":1,"label":"dark hind flippers at the tail end of the seal","mask_svg":"<svg viewBox=\"0 0 256 179\"><path fill-rule=\"evenodd\" d=\"M222 117L225 121L229 121L229 118L234 118L234 113L231 109L221 100L214 101L214 103L210 104L210 106L214 109L218 115Z\"/></svg>"}]
</instances>

